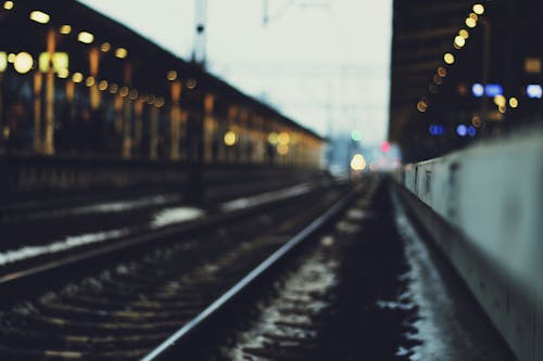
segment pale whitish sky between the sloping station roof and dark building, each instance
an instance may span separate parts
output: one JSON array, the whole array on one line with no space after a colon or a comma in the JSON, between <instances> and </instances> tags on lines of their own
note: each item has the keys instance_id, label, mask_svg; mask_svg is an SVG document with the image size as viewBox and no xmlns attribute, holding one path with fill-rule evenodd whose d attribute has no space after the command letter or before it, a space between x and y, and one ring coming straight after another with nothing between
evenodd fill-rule
<instances>
[{"instance_id":1,"label":"pale whitish sky between the sloping station roof and dark building","mask_svg":"<svg viewBox=\"0 0 543 361\"><path fill-rule=\"evenodd\" d=\"M189 59L198 0L79 0ZM207 69L327 136L386 139L391 0L207 0Z\"/></svg>"}]
</instances>

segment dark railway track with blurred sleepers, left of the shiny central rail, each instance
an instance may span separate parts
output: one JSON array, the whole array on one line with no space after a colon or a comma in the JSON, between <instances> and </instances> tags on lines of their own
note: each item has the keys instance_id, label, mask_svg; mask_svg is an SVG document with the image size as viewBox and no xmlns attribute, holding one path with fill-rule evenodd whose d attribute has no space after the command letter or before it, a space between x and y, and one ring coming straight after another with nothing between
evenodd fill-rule
<instances>
[{"instance_id":1,"label":"dark railway track with blurred sleepers, left of the shiny central rail","mask_svg":"<svg viewBox=\"0 0 543 361\"><path fill-rule=\"evenodd\" d=\"M140 359L293 234L313 232L305 227L344 190L320 189L4 275L0 359Z\"/></svg>"}]
</instances>

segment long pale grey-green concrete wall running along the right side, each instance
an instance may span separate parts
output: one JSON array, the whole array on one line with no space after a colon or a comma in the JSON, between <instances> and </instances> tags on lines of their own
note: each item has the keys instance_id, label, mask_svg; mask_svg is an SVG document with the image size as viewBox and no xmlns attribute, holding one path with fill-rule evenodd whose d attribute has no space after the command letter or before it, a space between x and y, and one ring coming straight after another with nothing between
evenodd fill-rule
<instances>
[{"instance_id":1,"label":"long pale grey-green concrete wall running along the right side","mask_svg":"<svg viewBox=\"0 0 543 361\"><path fill-rule=\"evenodd\" d=\"M543 360L543 132L407 165L394 178L518 359Z\"/></svg>"}]
</instances>

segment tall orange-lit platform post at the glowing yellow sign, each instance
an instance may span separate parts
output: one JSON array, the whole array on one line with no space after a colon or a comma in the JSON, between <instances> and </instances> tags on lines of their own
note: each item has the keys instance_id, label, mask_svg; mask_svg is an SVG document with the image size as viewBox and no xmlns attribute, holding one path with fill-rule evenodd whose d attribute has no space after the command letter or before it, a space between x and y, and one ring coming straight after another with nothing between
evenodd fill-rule
<instances>
[{"instance_id":1,"label":"tall orange-lit platform post at the glowing yellow sign","mask_svg":"<svg viewBox=\"0 0 543 361\"><path fill-rule=\"evenodd\" d=\"M49 53L49 68L46 78L46 129L43 139L43 154L54 154L54 68L53 54L56 47L54 29L47 33L47 52Z\"/></svg>"}]
</instances>

